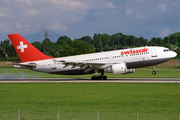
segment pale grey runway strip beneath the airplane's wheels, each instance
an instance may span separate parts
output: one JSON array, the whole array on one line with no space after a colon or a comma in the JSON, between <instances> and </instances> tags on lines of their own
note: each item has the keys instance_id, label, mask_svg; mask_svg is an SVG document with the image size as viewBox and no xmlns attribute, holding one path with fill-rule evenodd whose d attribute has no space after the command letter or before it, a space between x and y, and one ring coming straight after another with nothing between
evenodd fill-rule
<instances>
[{"instance_id":1,"label":"pale grey runway strip beneath the airplane's wheels","mask_svg":"<svg viewBox=\"0 0 180 120\"><path fill-rule=\"evenodd\" d=\"M109 78L108 80L91 80L88 78L0 78L0 83L180 83L177 78Z\"/></svg>"}]
</instances>

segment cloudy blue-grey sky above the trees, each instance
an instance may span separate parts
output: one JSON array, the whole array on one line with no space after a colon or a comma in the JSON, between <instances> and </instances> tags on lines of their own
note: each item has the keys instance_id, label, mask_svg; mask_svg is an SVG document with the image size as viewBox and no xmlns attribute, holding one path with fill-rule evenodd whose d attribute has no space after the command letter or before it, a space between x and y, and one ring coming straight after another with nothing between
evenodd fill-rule
<instances>
[{"instance_id":1,"label":"cloudy blue-grey sky above the trees","mask_svg":"<svg viewBox=\"0 0 180 120\"><path fill-rule=\"evenodd\" d=\"M179 0L1 0L0 40L42 29L81 38L95 33L164 38L180 31Z\"/></svg>"}]
</instances>

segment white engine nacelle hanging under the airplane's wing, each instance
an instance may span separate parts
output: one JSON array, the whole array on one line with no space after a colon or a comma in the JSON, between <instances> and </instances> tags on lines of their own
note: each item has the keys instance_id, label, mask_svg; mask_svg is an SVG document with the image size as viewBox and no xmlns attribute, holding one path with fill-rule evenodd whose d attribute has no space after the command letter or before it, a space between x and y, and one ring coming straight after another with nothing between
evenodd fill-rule
<instances>
[{"instance_id":1,"label":"white engine nacelle hanging under the airplane's wing","mask_svg":"<svg viewBox=\"0 0 180 120\"><path fill-rule=\"evenodd\" d=\"M120 63L113 64L111 67L106 68L104 71L113 74L128 74L134 73L135 69L127 69L126 63Z\"/></svg>"}]
</instances>

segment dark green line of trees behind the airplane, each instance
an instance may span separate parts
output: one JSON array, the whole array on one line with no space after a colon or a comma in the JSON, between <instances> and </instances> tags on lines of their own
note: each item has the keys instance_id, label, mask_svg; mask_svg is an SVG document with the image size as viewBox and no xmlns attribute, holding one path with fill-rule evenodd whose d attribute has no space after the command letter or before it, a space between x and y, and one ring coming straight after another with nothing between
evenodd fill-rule
<instances>
[{"instance_id":1,"label":"dark green line of trees behind the airplane","mask_svg":"<svg viewBox=\"0 0 180 120\"><path fill-rule=\"evenodd\" d=\"M93 38L84 36L79 39L72 40L67 36L61 36L56 42L52 42L49 38L43 42L35 41L32 43L38 50L52 57L64 57L71 55L80 55L86 53L94 53L101 51L110 51L116 49L140 47L140 46L165 46L174 50L180 55L180 32L170 34L164 37L153 37L151 40L133 35L125 35L116 33L113 35L97 34ZM1 61L20 61L13 45L8 39L0 43L0 60Z\"/></svg>"}]
</instances>

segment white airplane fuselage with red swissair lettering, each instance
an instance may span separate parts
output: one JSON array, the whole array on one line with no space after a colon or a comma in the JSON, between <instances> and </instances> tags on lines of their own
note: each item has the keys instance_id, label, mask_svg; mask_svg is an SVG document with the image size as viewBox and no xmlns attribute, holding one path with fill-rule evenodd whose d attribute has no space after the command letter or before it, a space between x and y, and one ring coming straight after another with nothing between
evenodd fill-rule
<instances>
[{"instance_id":1,"label":"white airplane fuselage with red swissair lettering","mask_svg":"<svg viewBox=\"0 0 180 120\"><path fill-rule=\"evenodd\" d=\"M35 63L36 67L32 70L55 73L55 74L86 74L80 66L65 67L64 62L74 61L74 63L96 63L93 67L101 70L106 69L112 64L126 63L128 69L157 65L174 58L177 54L165 47L139 47L115 50L109 52L99 52L92 54L60 57L40 61L25 62L22 64ZM99 63L99 64L98 64ZM103 63L103 65L102 65ZM75 64L74 64L75 65Z\"/></svg>"}]
</instances>

